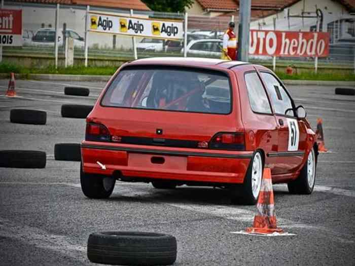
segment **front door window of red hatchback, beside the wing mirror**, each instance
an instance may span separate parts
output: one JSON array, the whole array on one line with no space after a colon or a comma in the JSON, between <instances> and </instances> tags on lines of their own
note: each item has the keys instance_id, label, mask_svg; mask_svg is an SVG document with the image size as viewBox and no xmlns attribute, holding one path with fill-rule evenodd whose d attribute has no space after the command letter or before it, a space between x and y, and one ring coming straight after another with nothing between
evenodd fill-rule
<instances>
[{"instance_id":1,"label":"front door window of red hatchback, beside the wing mirror","mask_svg":"<svg viewBox=\"0 0 355 266\"><path fill-rule=\"evenodd\" d=\"M285 115L288 110L292 110L292 101L290 96L287 94L281 83L271 73L260 73L261 77L265 81L266 88L271 95L275 113L278 113L279 115ZM288 111L287 113L288 115L291 115L293 111Z\"/></svg>"}]
</instances>

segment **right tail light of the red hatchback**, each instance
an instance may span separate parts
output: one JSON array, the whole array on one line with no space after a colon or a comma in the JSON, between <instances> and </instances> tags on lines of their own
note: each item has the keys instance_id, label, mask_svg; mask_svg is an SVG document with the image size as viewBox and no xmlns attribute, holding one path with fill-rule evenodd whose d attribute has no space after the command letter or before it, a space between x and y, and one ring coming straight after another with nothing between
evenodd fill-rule
<instances>
[{"instance_id":1,"label":"right tail light of the red hatchback","mask_svg":"<svg viewBox=\"0 0 355 266\"><path fill-rule=\"evenodd\" d=\"M212 137L209 148L245 150L244 133L219 132Z\"/></svg>"}]
</instances>

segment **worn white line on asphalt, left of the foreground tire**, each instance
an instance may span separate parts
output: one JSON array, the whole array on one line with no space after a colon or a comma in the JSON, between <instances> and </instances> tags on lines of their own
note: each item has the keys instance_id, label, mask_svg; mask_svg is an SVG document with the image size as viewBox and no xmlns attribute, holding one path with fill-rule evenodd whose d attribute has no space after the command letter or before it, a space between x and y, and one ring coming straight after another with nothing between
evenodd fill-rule
<instances>
[{"instance_id":1,"label":"worn white line on asphalt, left of the foreground tire","mask_svg":"<svg viewBox=\"0 0 355 266\"><path fill-rule=\"evenodd\" d=\"M75 260L88 263L86 259L86 246L75 245L74 238L54 235L37 227L22 224L21 221L13 222L0 217L0 236L23 242L35 248L53 250L70 256Z\"/></svg>"}]
</instances>

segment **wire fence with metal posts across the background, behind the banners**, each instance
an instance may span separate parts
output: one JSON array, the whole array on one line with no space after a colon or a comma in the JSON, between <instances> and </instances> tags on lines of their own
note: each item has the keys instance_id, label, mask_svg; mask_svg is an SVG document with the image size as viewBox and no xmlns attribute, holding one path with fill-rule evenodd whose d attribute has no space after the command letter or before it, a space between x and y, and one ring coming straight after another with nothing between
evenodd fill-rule
<instances>
[{"instance_id":1,"label":"wire fence with metal posts across the background, behind the banners","mask_svg":"<svg viewBox=\"0 0 355 266\"><path fill-rule=\"evenodd\" d=\"M23 40L22 47L4 47L4 60L9 57L36 57L51 60L55 54L55 23L56 5L30 4L5 2L5 8L22 9L23 13ZM129 16L130 11L119 9L105 9L90 7L90 11L107 12L117 15ZM144 18L160 18L184 20L181 13L161 13L153 11L133 11L134 16ZM63 39L65 36L73 37L75 45L76 64L83 64L85 59L85 6L60 5L59 7L59 33L58 33L58 58L59 65L63 65L65 56ZM228 22L236 23L238 29L238 17L234 16L189 16L187 20L187 56L212 57L221 56L222 37L227 29ZM300 18L288 16L287 18L252 18L251 29L270 30L316 30L317 18ZM66 31L63 34L63 28ZM318 58L318 67L344 68L355 70L355 37L354 19L348 17L335 17L333 20L322 23L319 30L330 33L330 54L327 58ZM237 34L237 32L236 32ZM184 40L167 41L149 38L135 37L137 57L156 56L184 56ZM87 34L89 66L96 64L117 65L118 62L134 59L132 37L123 35L102 34L89 31ZM194 43L203 43L195 45ZM190 46L189 46L190 45ZM272 66L272 57L250 57L253 62ZM287 58L274 59L276 68L279 66L293 65L296 70L309 69L314 66L315 58ZM37 61L33 61L37 62ZM41 67L41 65L34 65Z\"/></svg>"}]
</instances>

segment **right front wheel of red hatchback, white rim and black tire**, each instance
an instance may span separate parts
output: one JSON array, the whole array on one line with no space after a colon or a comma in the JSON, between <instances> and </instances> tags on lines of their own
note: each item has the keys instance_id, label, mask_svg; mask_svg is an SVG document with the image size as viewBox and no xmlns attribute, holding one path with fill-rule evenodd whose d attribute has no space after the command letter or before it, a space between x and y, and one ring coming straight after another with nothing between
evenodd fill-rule
<instances>
[{"instance_id":1,"label":"right front wheel of red hatchback, white rim and black tire","mask_svg":"<svg viewBox=\"0 0 355 266\"><path fill-rule=\"evenodd\" d=\"M292 194L311 194L315 184L317 158L314 148L308 154L306 163L304 164L300 175L296 180L287 184L289 192Z\"/></svg>"}]
</instances>

